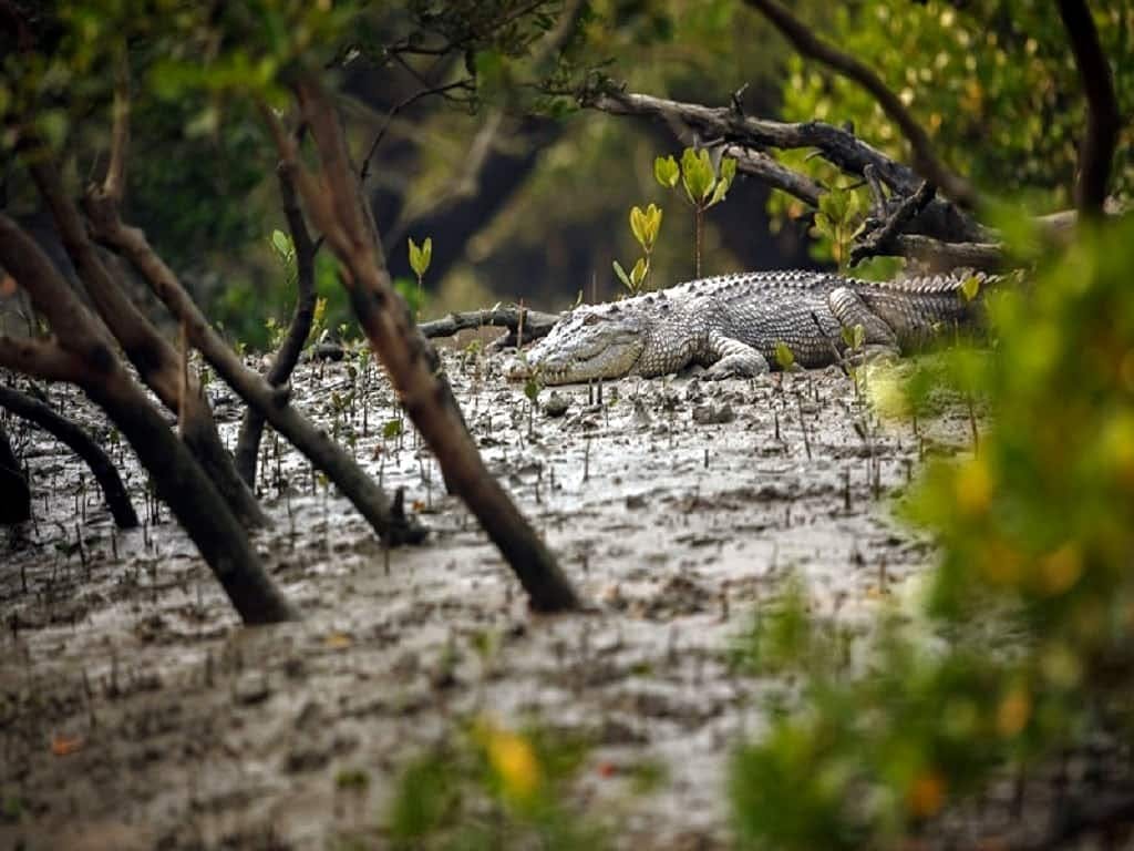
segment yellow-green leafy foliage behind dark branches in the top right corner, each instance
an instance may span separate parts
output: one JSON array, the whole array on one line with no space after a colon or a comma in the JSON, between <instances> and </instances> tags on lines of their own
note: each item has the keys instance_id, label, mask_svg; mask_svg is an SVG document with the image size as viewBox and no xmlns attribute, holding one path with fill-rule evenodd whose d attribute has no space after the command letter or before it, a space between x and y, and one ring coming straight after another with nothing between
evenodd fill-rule
<instances>
[{"instance_id":1,"label":"yellow-green leafy foliage behind dark branches in the top right corner","mask_svg":"<svg viewBox=\"0 0 1134 851\"><path fill-rule=\"evenodd\" d=\"M1119 112L1134 110L1134 3L1091 3L1103 51L1116 76ZM873 68L930 134L954 170L982 192L1027 199L1033 213L1072 205L1077 142L1086 103L1055 3L1048 0L885 0L820 7L801 17ZM784 83L787 120L849 121L885 153L908 162L898 128L861 86L793 54ZM1134 129L1122 130L1114 194L1134 192ZM780 159L828 185L838 172L806 151ZM869 200L865 188L858 189ZM805 212L796 199L772 196L777 214ZM830 242L816 250L830 256Z\"/></svg>"}]
</instances>

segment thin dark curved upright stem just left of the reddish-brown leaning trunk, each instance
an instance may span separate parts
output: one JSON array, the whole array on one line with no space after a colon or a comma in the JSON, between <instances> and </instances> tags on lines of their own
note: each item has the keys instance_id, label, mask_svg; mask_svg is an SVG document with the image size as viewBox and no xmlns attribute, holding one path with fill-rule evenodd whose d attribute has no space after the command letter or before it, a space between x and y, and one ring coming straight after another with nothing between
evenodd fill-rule
<instances>
[{"instance_id":1,"label":"thin dark curved upright stem just left of the reddish-brown leaning trunk","mask_svg":"<svg viewBox=\"0 0 1134 851\"><path fill-rule=\"evenodd\" d=\"M277 177L284 203L284 216L291 234L291 245L295 247L297 295L287 336L280 343L265 376L268 384L272 387L281 387L288 382L291 371L299 362L303 345L311 334L311 322L315 315L315 253L319 251L319 246L307 233L307 225L303 220L303 212L299 210L295 196L295 186L291 185L290 178L282 170L278 171ZM263 413L249 405L244 412L234 453L236 469L249 488L255 487L256 458L260 455L260 438L263 431Z\"/></svg>"}]
</instances>

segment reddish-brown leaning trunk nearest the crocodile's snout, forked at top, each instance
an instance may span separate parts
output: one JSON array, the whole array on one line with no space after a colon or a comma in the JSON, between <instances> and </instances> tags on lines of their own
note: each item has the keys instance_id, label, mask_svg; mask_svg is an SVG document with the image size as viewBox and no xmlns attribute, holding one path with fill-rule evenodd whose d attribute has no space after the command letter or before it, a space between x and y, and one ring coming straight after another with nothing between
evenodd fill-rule
<instances>
[{"instance_id":1,"label":"reddish-brown leaning trunk nearest the crocodile's snout, forked at top","mask_svg":"<svg viewBox=\"0 0 1134 851\"><path fill-rule=\"evenodd\" d=\"M286 134L277 130L279 153L285 167L296 175L296 186L313 222L328 234L328 244L346 267L352 304L371 348L386 365L401 404L441 465L446 482L480 520L516 573L531 605L545 612L576 608L578 598L547 545L485 469L437 353L421 336L405 301L390 284L381 246L372 241L371 222L363 221L356 174L350 168L339 116L327 92L305 77L297 83L296 95L319 151L321 179L316 182L298 161Z\"/></svg>"}]
</instances>

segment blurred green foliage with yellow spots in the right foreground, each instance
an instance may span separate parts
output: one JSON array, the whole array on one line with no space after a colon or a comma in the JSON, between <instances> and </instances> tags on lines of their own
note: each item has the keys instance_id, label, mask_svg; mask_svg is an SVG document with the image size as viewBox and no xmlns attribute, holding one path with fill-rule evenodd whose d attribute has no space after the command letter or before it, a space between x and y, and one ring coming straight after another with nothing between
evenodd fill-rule
<instances>
[{"instance_id":1,"label":"blurred green foliage with yellow spots in the right foreground","mask_svg":"<svg viewBox=\"0 0 1134 851\"><path fill-rule=\"evenodd\" d=\"M932 462L903 505L941 547L924 603L857 647L789 593L742 642L754 673L803 675L799 705L735 755L748 846L885 846L1100 719L1131 733L1134 222L1038 263L984 296L993 353L948 351L886 405L988 405L978 450Z\"/></svg>"}]
</instances>

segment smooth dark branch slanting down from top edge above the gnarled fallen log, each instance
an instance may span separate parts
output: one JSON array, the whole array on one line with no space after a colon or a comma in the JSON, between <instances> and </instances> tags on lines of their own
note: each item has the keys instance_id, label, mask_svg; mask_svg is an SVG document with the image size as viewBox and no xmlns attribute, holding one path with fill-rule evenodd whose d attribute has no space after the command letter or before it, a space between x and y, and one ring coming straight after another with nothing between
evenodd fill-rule
<instances>
[{"instance_id":1,"label":"smooth dark branch slanting down from top edge above the gnarled fallen log","mask_svg":"<svg viewBox=\"0 0 1134 851\"><path fill-rule=\"evenodd\" d=\"M938 158L929 134L870 66L815 37L803 23L776 0L744 1L763 14L801 53L822 62L870 92L882 111L898 126L906 141L909 142L909 148L913 150L914 168L922 176L940 186L945 194L958 204L967 208L976 205L979 199L972 185Z\"/></svg>"}]
</instances>

